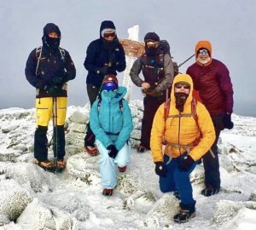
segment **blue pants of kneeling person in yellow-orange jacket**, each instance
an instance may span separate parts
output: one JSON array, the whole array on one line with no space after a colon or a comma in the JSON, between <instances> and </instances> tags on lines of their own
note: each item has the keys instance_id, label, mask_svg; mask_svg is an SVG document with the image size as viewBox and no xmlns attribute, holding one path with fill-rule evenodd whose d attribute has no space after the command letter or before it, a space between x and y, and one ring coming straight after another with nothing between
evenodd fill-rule
<instances>
[{"instance_id":1,"label":"blue pants of kneeling person in yellow-orange jacket","mask_svg":"<svg viewBox=\"0 0 256 230\"><path fill-rule=\"evenodd\" d=\"M188 171L181 171L178 169L179 161L182 160L187 153L184 153L178 158L172 158L168 163L170 157L164 156L164 163L166 164L166 177L160 176L160 190L163 193L177 191L181 199L183 209L194 211L195 199L193 198L193 189L189 179L190 173L195 169L197 161L192 164Z\"/></svg>"}]
</instances>

